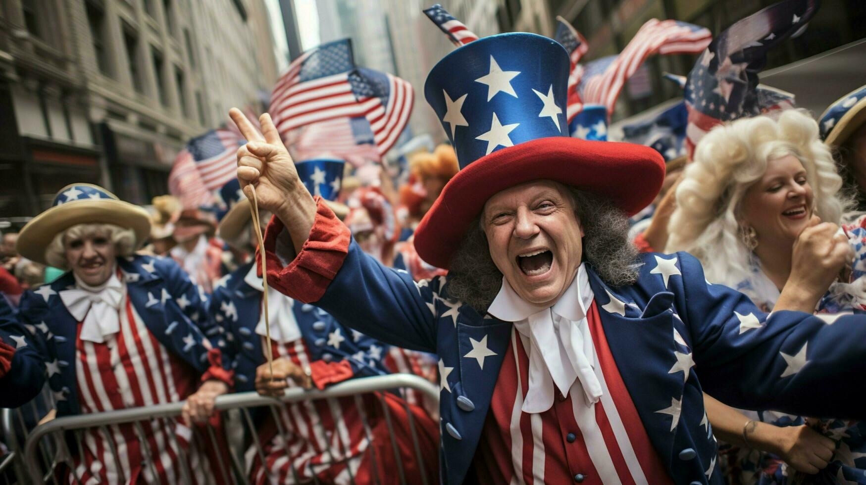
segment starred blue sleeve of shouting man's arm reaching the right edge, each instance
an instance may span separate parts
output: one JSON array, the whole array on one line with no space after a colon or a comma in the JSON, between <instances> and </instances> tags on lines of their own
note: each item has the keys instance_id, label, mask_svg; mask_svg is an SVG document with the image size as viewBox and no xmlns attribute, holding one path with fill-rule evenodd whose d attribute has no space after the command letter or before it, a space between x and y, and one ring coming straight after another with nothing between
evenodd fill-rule
<instances>
[{"instance_id":1,"label":"starred blue sleeve of shouting man's arm reaching the right edge","mask_svg":"<svg viewBox=\"0 0 866 485\"><path fill-rule=\"evenodd\" d=\"M803 416L866 417L866 317L834 323L801 312L764 314L744 294L706 281L678 253L671 278L701 386L735 407Z\"/></svg>"}]
</instances>

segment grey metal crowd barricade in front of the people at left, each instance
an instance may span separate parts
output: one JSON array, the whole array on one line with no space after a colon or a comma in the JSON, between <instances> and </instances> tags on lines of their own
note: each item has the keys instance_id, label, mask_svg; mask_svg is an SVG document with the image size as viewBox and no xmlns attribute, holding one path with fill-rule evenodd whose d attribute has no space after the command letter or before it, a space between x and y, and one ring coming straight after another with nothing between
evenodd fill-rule
<instances>
[{"instance_id":1,"label":"grey metal crowd barricade in front of the people at left","mask_svg":"<svg viewBox=\"0 0 866 485\"><path fill-rule=\"evenodd\" d=\"M270 413L275 417L275 424L278 428L278 433L281 434L281 437L284 443L288 443L288 436L286 435L287 431L282 429L281 420L279 419L280 408L284 404L290 403L301 403L308 400L316 400L316 399L325 399L325 398L344 398L344 397L354 397L356 402L359 402L359 399L362 395L367 393L372 393L376 391L392 391L392 390L407 390L414 389L423 394L424 397L433 399L434 402L438 402L439 400L439 389L436 385L430 383L430 381L420 378L411 374L390 374L387 376L378 376L371 378L356 378L345 381L343 383L333 385L328 387L325 391L304 391L300 388L290 388L286 391L286 394L281 398L266 398L258 395L255 392L241 392L235 394L227 394L224 396L220 396L216 398L216 410L220 411L223 418L228 417L229 419L234 419L238 424L243 427L243 429L247 432L243 433L245 438L242 440L242 443L239 443L237 439L232 439L231 437L227 437L223 443L228 443L228 455L229 462L223 462L222 460L216 460L216 463L210 462L206 466L207 472L205 473L208 483L243 483L249 484L249 476L248 476L248 465L249 463L245 460L246 450L250 447L255 448L254 456L258 456L262 463L265 462L264 452L262 450L261 443L257 436L257 430L255 429L254 419L252 414L250 413L251 409L254 408L262 408L268 409ZM382 406L384 410L383 414L385 416L385 423L387 424L387 429L389 430L389 437L391 441L391 446L388 447L393 450L394 457L397 462L397 470L395 470L395 475L399 477L399 482L406 483L406 477L404 475L404 464L400 458L398 452L398 443L394 439L394 430L391 424L391 415L388 410L388 406L385 404L385 399L382 398L381 394L378 395L378 404ZM417 430L416 426L411 418L412 413L409 412L409 404L403 403L404 411L407 411L409 416L409 428L410 428L410 436L412 439L412 448L413 448L413 456L417 460L417 465L419 469L421 469L422 482L423 483L412 483L412 485L433 485L429 480L427 480L425 475L431 475L436 472L436 470L426 470L424 472L424 458L422 456L421 448L418 442ZM87 430L99 430L101 433L107 437L111 443L110 448L112 452L112 456L115 462L118 462L118 455L116 450L116 443L113 441L113 433L108 431L108 428L111 426L119 425L119 424L132 424L134 429L136 430L136 434L139 437L139 443L142 443L142 451L145 456L145 462L148 462L148 466L153 466L153 461L150 459L153 454L153 450L150 449L150 445L148 443L148 439L144 437L144 430L142 428L142 424L152 423L154 421L170 423L173 420L180 416L181 409L183 407L183 403L171 403L171 404L158 404L153 406L147 406L144 408L131 408L126 410L119 411L107 411L100 412L94 414L87 415L78 415L71 417L60 417L56 418L48 423L41 424L36 427L36 429L32 430L27 438L27 442L24 446L24 463L25 467L29 473L29 479L33 483L59 483L60 479L55 473L56 469L61 466L65 466L68 469L71 480L74 483L80 483L80 476L78 476L77 471L74 466L74 461L72 459L72 446L70 443L74 443L77 445L77 449L81 449L82 436ZM364 417L364 413L361 414L361 419L364 421L364 428L366 430L366 437L368 440L372 440L372 435L370 434L370 426ZM437 421L437 420L436 420ZM168 428L171 428L169 426ZM235 425L223 426L223 428L227 431L230 431L235 428ZM197 428L198 429L198 428ZM327 431L327 430L326 430ZM336 432L336 431L333 431ZM227 433L227 435L229 434ZM172 440L172 444L178 445L178 437L171 433L169 438ZM211 446L214 449L220 449L219 438L216 436L216 432L210 426L206 426L206 431L197 430L193 433L193 439L199 442L204 443L205 446ZM327 453L331 453L330 446L328 446ZM179 449L179 448L178 448ZM369 447L372 449L372 446ZM386 448L387 449L387 448ZM252 452L252 451L251 451ZM333 456L332 456L333 458ZM426 456L428 461L430 460L430 456ZM291 461L289 461L291 463ZM184 477L184 482L191 482L189 478L194 470L189 469L189 466L185 459L178 460L178 465L180 467L181 475ZM352 475L352 467L347 467L349 469L349 482L352 484L355 483L354 476ZM158 474L155 473L155 469L152 470L152 476L156 477L159 480ZM297 477L297 470L294 469L294 465L291 465L291 475ZM270 482L269 472L265 472L268 475L268 482ZM375 477L375 482L380 483L382 477ZM120 477L121 481L128 479L128 477ZM313 482L318 483L318 480L315 478L315 474L313 474ZM429 483L430 482L430 483Z\"/></svg>"}]
</instances>

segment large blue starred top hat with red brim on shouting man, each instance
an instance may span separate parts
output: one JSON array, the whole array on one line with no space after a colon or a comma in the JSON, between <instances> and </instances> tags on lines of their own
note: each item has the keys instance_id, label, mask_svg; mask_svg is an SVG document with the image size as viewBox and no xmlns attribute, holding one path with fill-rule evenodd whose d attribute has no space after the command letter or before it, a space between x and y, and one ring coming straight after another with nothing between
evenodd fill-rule
<instances>
[{"instance_id":1,"label":"large blue starred top hat with red brim on shouting man","mask_svg":"<svg viewBox=\"0 0 866 485\"><path fill-rule=\"evenodd\" d=\"M469 42L430 71L424 95L460 171L418 225L425 262L448 268L488 198L517 184L548 179L597 191L629 214L656 197L664 178L657 152L570 136L570 68L559 42L517 32Z\"/></svg>"}]
</instances>

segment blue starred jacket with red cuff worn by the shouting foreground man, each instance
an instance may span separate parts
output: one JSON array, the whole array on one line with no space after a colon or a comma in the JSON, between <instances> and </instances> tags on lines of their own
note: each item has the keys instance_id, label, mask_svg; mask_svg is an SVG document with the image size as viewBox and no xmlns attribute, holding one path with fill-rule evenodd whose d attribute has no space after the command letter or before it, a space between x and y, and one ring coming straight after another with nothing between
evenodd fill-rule
<instances>
[{"instance_id":1,"label":"blue starred jacket with red cuff worn by the shouting foreground man","mask_svg":"<svg viewBox=\"0 0 866 485\"><path fill-rule=\"evenodd\" d=\"M286 266L274 251L288 235L272 220L265 243L269 281L284 293L315 299L375 338L438 353L449 384L440 394L441 476L461 483L513 325L450 299L447 277L416 284L383 267L347 230L329 223L331 217L320 206L310 239ZM676 483L723 482L702 391L741 409L866 417L864 386L852 385L866 375L866 317L843 316L828 325L811 314L767 315L745 295L708 284L692 255L640 258L638 280L630 286L611 288L591 267L587 272L619 373ZM309 283L293 287L297 281ZM470 339L485 338L494 355L482 369L467 354Z\"/></svg>"}]
</instances>

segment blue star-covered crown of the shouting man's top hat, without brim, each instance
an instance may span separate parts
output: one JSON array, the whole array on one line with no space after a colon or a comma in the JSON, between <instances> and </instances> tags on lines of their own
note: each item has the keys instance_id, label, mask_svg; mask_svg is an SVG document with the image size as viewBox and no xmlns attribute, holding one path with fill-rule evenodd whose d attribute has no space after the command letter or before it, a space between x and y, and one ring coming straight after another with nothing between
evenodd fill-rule
<instances>
[{"instance_id":1,"label":"blue star-covered crown of the shouting man's top hat, without brim","mask_svg":"<svg viewBox=\"0 0 866 485\"><path fill-rule=\"evenodd\" d=\"M469 42L446 55L424 85L460 168L495 150L568 136L570 61L559 42L527 33Z\"/></svg>"}]
</instances>

